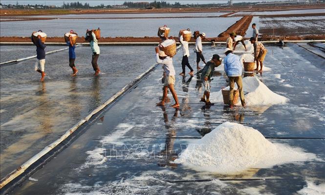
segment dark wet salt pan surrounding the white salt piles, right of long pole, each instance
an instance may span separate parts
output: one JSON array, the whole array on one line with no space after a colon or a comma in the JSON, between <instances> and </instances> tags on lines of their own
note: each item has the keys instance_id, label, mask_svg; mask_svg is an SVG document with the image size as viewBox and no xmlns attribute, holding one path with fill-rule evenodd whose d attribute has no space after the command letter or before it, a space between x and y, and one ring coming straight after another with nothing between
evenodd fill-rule
<instances>
[{"instance_id":1,"label":"dark wet salt pan surrounding the white salt piles, right of long pole","mask_svg":"<svg viewBox=\"0 0 325 195\"><path fill-rule=\"evenodd\" d=\"M234 110L217 103L205 108L199 103L204 90L200 80L196 76L176 75L180 109L170 107L171 94L166 108L155 107L162 95L162 69L158 66L102 113L74 143L31 175L38 181L25 181L13 194L324 193L324 139L304 139L325 137L325 67L320 63L324 59L296 44L289 43L283 49L271 45L266 48L269 52L264 65L272 69L254 76L273 92L288 98L288 103ZM206 59L222 51L220 47L203 48ZM181 52L173 59L179 73ZM194 66L192 52L189 61ZM224 72L216 71L212 92L225 86ZM252 127L272 143L299 147L321 160L248 169L231 175L196 172L173 163L191 140L226 121ZM277 139L281 137L300 139Z\"/></svg>"}]
</instances>

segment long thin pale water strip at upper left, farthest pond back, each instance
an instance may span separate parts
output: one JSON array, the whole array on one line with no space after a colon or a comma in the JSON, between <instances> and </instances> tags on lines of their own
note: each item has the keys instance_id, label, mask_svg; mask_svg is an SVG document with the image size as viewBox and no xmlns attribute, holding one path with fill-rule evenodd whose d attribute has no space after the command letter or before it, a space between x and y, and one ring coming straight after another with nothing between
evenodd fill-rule
<instances>
[{"instance_id":1,"label":"long thin pale water strip at upper left, farthest pond back","mask_svg":"<svg viewBox=\"0 0 325 195\"><path fill-rule=\"evenodd\" d=\"M67 14L67 15L38 15L17 16L17 18L150 18L150 17L213 17L229 12L204 12L204 13L146 13L146 14ZM7 17L1 17L3 19Z\"/></svg>"}]
</instances>

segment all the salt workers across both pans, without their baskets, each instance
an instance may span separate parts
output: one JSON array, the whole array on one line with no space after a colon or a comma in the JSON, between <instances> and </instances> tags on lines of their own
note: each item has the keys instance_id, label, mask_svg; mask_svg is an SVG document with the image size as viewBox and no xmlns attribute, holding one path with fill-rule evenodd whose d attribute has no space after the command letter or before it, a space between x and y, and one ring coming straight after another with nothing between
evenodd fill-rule
<instances>
[{"instance_id":1,"label":"all the salt workers across both pans, without their baskets","mask_svg":"<svg viewBox=\"0 0 325 195\"><path fill-rule=\"evenodd\" d=\"M258 29L256 28L256 24L254 23L252 25L253 28L253 36L250 38L250 42L254 46L254 61L257 61L257 68L255 70L262 71L263 68L263 61L265 58L265 55L267 53L267 49L264 47L264 45L260 42L258 42ZM187 66L190 69L189 74L191 76L194 75L194 70L191 67L188 57L190 56L189 52L189 43L183 39L183 32L179 36L179 41L182 44L182 51L183 51L183 57L182 57L182 72L180 75L185 75L185 66ZM72 69L72 76L76 76L78 73L78 69L75 66L75 47L76 45L71 40L71 35L69 36L69 39L67 40L66 44L69 46L69 66ZM44 65L45 65L45 47L46 45L42 43L41 36L38 36L38 40L34 41L33 37L31 37L32 42L36 45L37 49L37 61L35 63L35 71L38 71L41 73L41 82L44 81L45 77L45 71L44 71ZM98 46L98 40L96 39L96 36L93 32L93 30L89 31L87 29L86 32L86 38L87 41L90 42L90 47L92 51L92 59L91 59L91 65L93 67L93 70L95 71L94 75L98 75L100 73L100 68L98 67L97 60L100 54L100 48ZM213 73L215 70L215 67L221 65L222 59L218 54L214 54L212 56L212 59L205 62L205 58L203 56L203 48L202 48L202 39L206 39L205 33L200 33L197 35L196 41L195 41L195 53L196 53L196 69L198 70L197 74L201 74L201 81L204 86L204 93L201 98L201 102L204 102L206 106L212 106L213 103L210 102L210 91L211 91L211 79L213 77ZM164 41L162 39L162 41ZM208 40L210 41L210 40ZM242 65L240 62L240 58L233 54L236 45L238 43L242 43L245 47L245 51L247 51L247 47L243 41L243 37L236 35L236 33L232 32L229 34L229 38L226 41L226 49L224 51L224 54L226 55L224 59L224 71L226 75L229 78L229 86L230 86L230 92L229 92L229 105L230 108L234 107L234 86L235 83L238 86L239 90L239 96L241 105L245 108L245 99L242 89L242 80L241 80L241 74L242 74ZM157 106L164 106L167 98L168 88L170 89L173 98L175 100L175 104L172 105L173 108L179 107L179 102L177 98L176 91L174 89L175 84L175 70L173 67L173 58L167 56L163 51L159 49L159 47L155 47L156 52L156 63L162 64L164 68L164 87L163 87L163 96L159 103L157 103ZM203 61L205 66L203 69L199 66L199 62Z\"/></svg>"}]
</instances>

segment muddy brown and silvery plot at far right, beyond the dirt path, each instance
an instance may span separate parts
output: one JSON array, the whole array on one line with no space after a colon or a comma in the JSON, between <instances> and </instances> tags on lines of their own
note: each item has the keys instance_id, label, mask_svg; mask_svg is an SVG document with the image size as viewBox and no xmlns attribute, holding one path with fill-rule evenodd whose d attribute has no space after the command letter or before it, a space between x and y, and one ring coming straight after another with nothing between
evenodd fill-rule
<instances>
[{"instance_id":1,"label":"muddy brown and silvery plot at far right, beyond the dirt path","mask_svg":"<svg viewBox=\"0 0 325 195\"><path fill-rule=\"evenodd\" d=\"M275 36L324 35L325 16L259 18L260 33Z\"/></svg>"}]
</instances>

